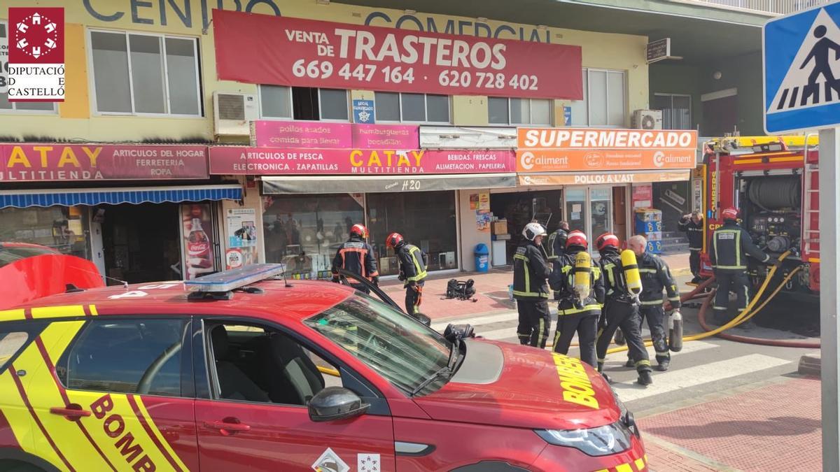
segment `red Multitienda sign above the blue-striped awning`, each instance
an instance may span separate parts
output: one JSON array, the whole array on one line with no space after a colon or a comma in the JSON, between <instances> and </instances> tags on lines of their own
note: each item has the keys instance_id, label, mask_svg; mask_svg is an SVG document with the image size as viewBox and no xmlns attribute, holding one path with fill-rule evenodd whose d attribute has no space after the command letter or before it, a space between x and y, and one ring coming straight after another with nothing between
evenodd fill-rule
<instances>
[{"instance_id":1,"label":"red Multitienda sign above the blue-striped awning","mask_svg":"<svg viewBox=\"0 0 840 472\"><path fill-rule=\"evenodd\" d=\"M206 179L206 146L0 144L0 181Z\"/></svg>"}]
</instances>

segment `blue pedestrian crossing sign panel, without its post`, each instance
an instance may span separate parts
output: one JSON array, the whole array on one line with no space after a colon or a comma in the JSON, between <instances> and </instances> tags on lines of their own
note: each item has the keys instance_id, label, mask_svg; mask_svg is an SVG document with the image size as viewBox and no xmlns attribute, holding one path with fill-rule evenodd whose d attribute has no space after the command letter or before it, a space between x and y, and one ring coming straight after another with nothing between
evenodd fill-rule
<instances>
[{"instance_id":1,"label":"blue pedestrian crossing sign panel, without its post","mask_svg":"<svg viewBox=\"0 0 840 472\"><path fill-rule=\"evenodd\" d=\"M840 2L764 24L764 130L840 126Z\"/></svg>"}]
</instances>

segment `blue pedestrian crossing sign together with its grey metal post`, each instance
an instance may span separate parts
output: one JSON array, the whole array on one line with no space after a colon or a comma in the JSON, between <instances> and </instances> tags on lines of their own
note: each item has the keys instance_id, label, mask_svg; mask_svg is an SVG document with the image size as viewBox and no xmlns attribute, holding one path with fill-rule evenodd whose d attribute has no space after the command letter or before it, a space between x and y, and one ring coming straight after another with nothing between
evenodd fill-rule
<instances>
[{"instance_id":1,"label":"blue pedestrian crossing sign together with its grey metal post","mask_svg":"<svg viewBox=\"0 0 840 472\"><path fill-rule=\"evenodd\" d=\"M822 469L840 471L837 402L837 215L840 214L840 2L764 24L764 129L820 129Z\"/></svg>"}]
</instances>

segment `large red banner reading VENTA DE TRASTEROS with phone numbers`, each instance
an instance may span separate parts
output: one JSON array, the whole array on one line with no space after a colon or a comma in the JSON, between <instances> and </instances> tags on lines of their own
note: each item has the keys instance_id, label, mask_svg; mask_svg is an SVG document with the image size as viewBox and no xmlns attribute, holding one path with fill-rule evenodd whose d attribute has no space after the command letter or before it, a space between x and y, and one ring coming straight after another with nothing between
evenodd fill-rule
<instances>
[{"instance_id":1,"label":"large red banner reading VENTA DE TRASTEROS with phone numbers","mask_svg":"<svg viewBox=\"0 0 840 472\"><path fill-rule=\"evenodd\" d=\"M580 46L213 10L220 80L583 99Z\"/></svg>"}]
</instances>

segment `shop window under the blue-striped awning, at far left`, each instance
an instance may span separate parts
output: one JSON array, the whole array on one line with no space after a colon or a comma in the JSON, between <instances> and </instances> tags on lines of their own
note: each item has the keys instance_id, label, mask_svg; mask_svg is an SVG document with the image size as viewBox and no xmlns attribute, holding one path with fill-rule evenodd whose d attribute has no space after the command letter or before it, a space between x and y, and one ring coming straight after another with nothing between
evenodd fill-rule
<instances>
[{"instance_id":1,"label":"shop window under the blue-striped awning, at far left","mask_svg":"<svg viewBox=\"0 0 840 472\"><path fill-rule=\"evenodd\" d=\"M40 244L91 259L87 207L8 207L0 210L0 241Z\"/></svg>"}]
</instances>

